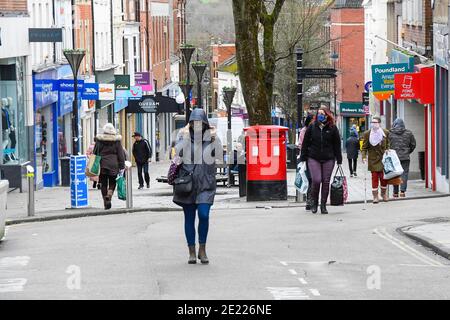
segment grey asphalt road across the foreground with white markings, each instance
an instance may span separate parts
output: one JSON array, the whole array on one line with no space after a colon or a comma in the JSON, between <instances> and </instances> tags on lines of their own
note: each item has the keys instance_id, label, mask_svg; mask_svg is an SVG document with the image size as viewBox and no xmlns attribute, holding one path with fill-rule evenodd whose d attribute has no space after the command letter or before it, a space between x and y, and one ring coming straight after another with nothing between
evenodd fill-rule
<instances>
[{"instance_id":1,"label":"grey asphalt road across the foreground with white markings","mask_svg":"<svg viewBox=\"0 0 450 320\"><path fill-rule=\"evenodd\" d=\"M213 208L209 265L188 265L179 212L11 225L0 300L450 299L450 261L398 232L449 220L447 207Z\"/></svg>"}]
</instances>

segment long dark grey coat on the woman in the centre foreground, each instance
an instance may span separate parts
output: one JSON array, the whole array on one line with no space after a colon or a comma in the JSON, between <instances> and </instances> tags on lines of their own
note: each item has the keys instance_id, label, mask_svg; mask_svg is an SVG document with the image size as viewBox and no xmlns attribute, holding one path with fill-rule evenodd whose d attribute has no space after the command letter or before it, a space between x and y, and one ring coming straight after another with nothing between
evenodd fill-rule
<instances>
[{"instance_id":1,"label":"long dark grey coat on the woman in the centre foreground","mask_svg":"<svg viewBox=\"0 0 450 320\"><path fill-rule=\"evenodd\" d=\"M197 149L199 148L199 149ZM200 143L194 142L193 132L188 126L180 130L180 141L175 146L176 154L183 158L183 164L179 176L192 172L193 190L189 194L180 195L174 192L173 202L179 206L187 204L214 203L216 195L216 163L215 160L223 160L222 144L215 137L215 130L210 129L203 135L201 142L201 163L195 164L194 151L200 150ZM187 153L187 154L186 154ZM190 161L189 159L190 153ZM189 163L190 162L190 163Z\"/></svg>"}]
</instances>

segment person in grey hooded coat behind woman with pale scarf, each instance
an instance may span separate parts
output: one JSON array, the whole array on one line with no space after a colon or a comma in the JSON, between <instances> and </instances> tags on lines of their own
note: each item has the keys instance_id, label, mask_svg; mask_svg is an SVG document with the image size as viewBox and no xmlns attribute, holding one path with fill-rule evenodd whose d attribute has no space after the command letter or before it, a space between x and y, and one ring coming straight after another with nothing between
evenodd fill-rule
<instances>
[{"instance_id":1,"label":"person in grey hooded coat behind woman with pale scarf","mask_svg":"<svg viewBox=\"0 0 450 320\"><path fill-rule=\"evenodd\" d=\"M408 187L408 174L409 174L409 164L410 164L410 154L416 149L416 139L413 133L406 129L405 122L403 119L397 118L390 130L390 144L391 149L397 152L398 158L403 167L402 174L402 184L399 188L398 185L394 186L394 198L399 197L399 189L400 189L400 197L406 197L406 189Z\"/></svg>"}]
</instances>

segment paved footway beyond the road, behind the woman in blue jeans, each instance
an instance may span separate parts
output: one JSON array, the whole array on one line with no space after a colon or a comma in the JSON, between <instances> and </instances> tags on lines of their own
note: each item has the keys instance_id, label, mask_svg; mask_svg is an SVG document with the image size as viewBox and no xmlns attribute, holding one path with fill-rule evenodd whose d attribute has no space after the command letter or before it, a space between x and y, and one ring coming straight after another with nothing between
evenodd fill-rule
<instances>
[{"instance_id":1,"label":"paved footway beyond the road, behind the woman in blue jeans","mask_svg":"<svg viewBox=\"0 0 450 320\"><path fill-rule=\"evenodd\" d=\"M169 162L157 162L150 165L150 189L138 190L136 170L133 168L133 209L126 208L126 202L113 199L113 209L105 211L103 209L103 201L100 191L92 188L90 184L89 190L89 207L84 209L70 208L70 188L54 187L44 188L35 192L35 216L27 216L27 193L20 193L18 190L8 194L6 223L17 224L32 221L47 221L64 218L78 218L83 216L109 215L129 213L136 211L180 211L180 207L172 202L172 187L156 181L157 177L167 174ZM344 161L344 171L349 173L348 164ZM363 170L360 162L358 168L358 177L347 177L349 188L349 204L363 203L365 199L370 201L371 186L370 173ZM214 207L216 209L242 209L242 208L289 208L301 207L304 203L295 202L295 170L288 170L288 201L271 201L271 202L247 202L246 198L239 197L239 189L237 186L227 188L222 184L218 185L216 201ZM429 198L448 196L432 192L425 189L424 182L421 180L412 180L409 182L407 199ZM396 201L402 201L399 199Z\"/></svg>"}]
</instances>

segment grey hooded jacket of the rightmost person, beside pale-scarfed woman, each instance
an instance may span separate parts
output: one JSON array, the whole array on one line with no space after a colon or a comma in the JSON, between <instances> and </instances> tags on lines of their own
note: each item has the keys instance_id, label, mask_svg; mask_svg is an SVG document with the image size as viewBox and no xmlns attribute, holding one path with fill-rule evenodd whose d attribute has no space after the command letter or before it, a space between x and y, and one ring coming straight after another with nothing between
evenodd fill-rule
<instances>
[{"instance_id":1,"label":"grey hooded jacket of the rightmost person, beside pale-scarfed woman","mask_svg":"<svg viewBox=\"0 0 450 320\"><path fill-rule=\"evenodd\" d=\"M397 152L400 160L410 160L410 154L416 149L416 139L413 133L405 128L403 119L397 118L389 135L391 149Z\"/></svg>"}]
</instances>

